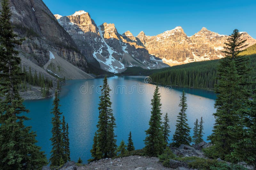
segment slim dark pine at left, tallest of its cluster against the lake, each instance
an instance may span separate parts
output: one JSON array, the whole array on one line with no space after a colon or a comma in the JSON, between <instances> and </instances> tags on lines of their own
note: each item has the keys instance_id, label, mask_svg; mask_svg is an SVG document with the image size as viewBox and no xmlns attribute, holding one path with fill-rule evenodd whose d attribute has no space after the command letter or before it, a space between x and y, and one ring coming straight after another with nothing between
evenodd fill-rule
<instances>
[{"instance_id":1,"label":"slim dark pine at left, tallest of its cluster against the lake","mask_svg":"<svg viewBox=\"0 0 256 170\"><path fill-rule=\"evenodd\" d=\"M55 99L53 101L52 114L52 155L50 158L51 166L60 166L60 161L63 156L63 142L61 133L61 121L60 115L62 114L59 109L60 99L58 98L58 93L55 91Z\"/></svg>"}]
</instances>

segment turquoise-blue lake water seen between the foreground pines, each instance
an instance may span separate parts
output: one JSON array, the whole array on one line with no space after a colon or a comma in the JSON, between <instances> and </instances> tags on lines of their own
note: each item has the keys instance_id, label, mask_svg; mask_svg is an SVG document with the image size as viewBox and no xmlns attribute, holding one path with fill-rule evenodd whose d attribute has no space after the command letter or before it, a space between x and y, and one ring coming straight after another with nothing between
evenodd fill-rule
<instances>
[{"instance_id":1,"label":"turquoise-blue lake water seen between the foreground pines","mask_svg":"<svg viewBox=\"0 0 256 170\"><path fill-rule=\"evenodd\" d=\"M148 129L148 121L151 111L151 99L155 85L145 83L142 76L114 76L108 78L111 91L111 102L116 118L117 145L121 140L127 143L129 131L135 149L144 147L145 130ZM92 140L98 122L99 89L103 78L92 80L70 80L62 87L60 93L60 111L63 112L69 125L70 157L77 161L79 157L83 163L91 157ZM211 134L215 112L214 101L216 95L211 91L188 88L160 87L163 116L167 112L170 119L171 133L175 131L177 115L180 111L180 95L182 90L187 93L187 117L191 128L196 118L203 117L204 140ZM26 116L31 120L26 125L32 126L36 131L38 145L50 158L52 149L50 138L52 137L51 118L53 98L25 101L24 104L30 110ZM192 135L192 129L191 129Z\"/></svg>"}]
</instances>

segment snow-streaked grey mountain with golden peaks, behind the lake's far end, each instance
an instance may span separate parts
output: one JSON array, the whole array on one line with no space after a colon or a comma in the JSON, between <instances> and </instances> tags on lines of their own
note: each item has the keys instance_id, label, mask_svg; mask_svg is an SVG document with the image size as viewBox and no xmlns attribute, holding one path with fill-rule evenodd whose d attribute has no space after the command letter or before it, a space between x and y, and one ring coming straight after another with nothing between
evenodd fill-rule
<instances>
[{"instance_id":1,"label":"snow-streaked grey mountain with golden peaks, behind the lake's far end","mask_svg":"<svg viewBox=\"0 0 256 170\"><path fill-rule=\"evenodd\" d=\"M97 26L88 12L76 11L70 16L55 15L60 25L71 35L86 59L100 63L104 70L120 73L126 67L162 68L168 65L150 59L148 50L127 31L119 34L114 24Z\"/></svg>"}]
</instances>

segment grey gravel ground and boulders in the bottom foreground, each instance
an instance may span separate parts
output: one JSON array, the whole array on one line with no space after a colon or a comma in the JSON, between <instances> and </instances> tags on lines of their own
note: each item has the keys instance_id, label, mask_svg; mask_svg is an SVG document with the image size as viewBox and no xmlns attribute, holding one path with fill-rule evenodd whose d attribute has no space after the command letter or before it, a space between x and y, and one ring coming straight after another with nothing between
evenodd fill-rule
<instances>
[{"instance_id":1,"label":"grey gravel ground and boulders in the bottom foreground","mask_svg":"<svg viewBox=\"0 0 256 170\"><path fill-rule=\"evenodd\" d=\"M212 144L201 142L198 145L180 145L178 148L171 148L172 152L179 157L196 156L204 158L201 151L203 148L209 147ZM217 159L218 161L222 161ZM248 169L253 167L246 166ZM164 167L159 158L146 156L127 156L123 158L106 158L91 162L87 165L76 164L74 161L67 162L59 170L196 170L188 167L188 162L181 162L170 159L170 167ZM50 170L44 166L42 170Z\"/></svg>"}]
</instances>

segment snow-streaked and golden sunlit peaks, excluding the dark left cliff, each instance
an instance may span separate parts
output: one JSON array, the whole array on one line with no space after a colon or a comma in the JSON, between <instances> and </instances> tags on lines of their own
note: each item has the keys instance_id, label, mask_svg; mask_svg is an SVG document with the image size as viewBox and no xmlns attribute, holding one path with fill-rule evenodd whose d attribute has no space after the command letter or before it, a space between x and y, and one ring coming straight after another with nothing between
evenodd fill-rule
<instances>
[{"instance_id":1,"label":"snow-streaked and golden sunlit peaks, excluding the dark left cliff","mask_svg":"<svg viewBox=\"0 0 256 170\"><path fill-rule=\"evenodd\" d=\"M227 35L220 35L203 27L187 36L182 27L147 36L143 31L133 36L130 31L122 35L114 24L97 26L88 12L76 11L70 16L54 15L61 26L71 35L79 50L99 61L101 68L120 72L126 67L162 68L164 64L178 65L194 61L220 59ZM240 32L246 44L256 43L247 32ZM90 53L88 53L90 51Z\"/></svg>"}]
</instances>

